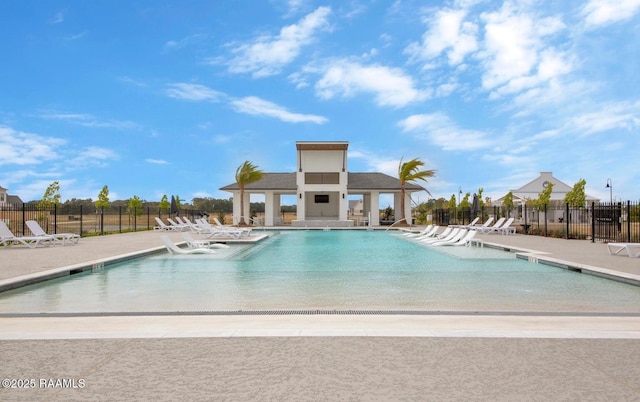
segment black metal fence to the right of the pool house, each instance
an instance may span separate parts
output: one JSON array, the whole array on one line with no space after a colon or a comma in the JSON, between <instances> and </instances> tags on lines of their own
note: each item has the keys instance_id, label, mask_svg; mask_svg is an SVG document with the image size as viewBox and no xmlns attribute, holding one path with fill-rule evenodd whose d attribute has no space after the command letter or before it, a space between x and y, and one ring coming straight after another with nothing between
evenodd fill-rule
<instances>
[{"instance_id":1,"label":"black metal fence to the right of the pool house","mask_svg":"<svg viewBox=\"0 0 640 402\"><path fill-rule=\"evenodd\" d=\"M640 203L591 203L587 207L569 204L545 206L542 209L522 205L516 208L494 206L472 213L470 208L438 209L432 220L438 225L468 224L475 217L484 222L489 216L514 218L518 233L589 239L593 242L640 242Z\"/></svg>"}]
</instances>

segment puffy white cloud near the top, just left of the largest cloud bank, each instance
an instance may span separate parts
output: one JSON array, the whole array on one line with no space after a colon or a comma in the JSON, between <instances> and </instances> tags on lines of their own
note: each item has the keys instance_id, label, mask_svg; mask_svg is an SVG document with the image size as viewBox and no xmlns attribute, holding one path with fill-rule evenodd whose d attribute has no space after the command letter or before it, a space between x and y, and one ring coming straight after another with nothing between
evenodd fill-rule
<instances>
[{"instance_id":1,"label":"puffy white cloud near the top, just left of the largest cloud bank","mask_svg":"<svg viewBox=\"0 0 640 402\"><path fill-rule=\"evenodd\" d=\"M464 21L466 10L439 10L425 18L429 26L422 43L414 42L405 49L412 59L429 61L446 53L452 66L462 63L464 58L478 49L476 24Z\"/></svg>"}]
</instances>

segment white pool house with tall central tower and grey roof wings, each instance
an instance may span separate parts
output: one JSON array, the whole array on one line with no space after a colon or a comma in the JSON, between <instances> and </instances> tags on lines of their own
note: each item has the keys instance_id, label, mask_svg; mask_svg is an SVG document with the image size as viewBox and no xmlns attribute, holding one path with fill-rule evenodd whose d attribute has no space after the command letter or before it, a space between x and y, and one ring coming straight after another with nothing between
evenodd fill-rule
<instances>
[{"instance_id":1,"label":"white pool house with tall central tower and grey roof wings","mask_svg":"<svg viewBox=\"0 0 640 402\"><path fill-rule=\"evenodd\" d=\"M249 216L247 194L263 194L265 197L265 226L280 224L280 197L295 195L297 219L292 226L325 227L353 226L349 219L349 195L361 195L363 216L371 217L370 224L380 224L379 199L381 194L393 194L394 210L411 211L411 193L424 188L407 183L405 199L401 200L400 181L384 173L352 173L347 168L346 141L298 141L297 171L294 173L266 173L262 180L245 186L244 211L240 206L240 189L237 183L220 190L233 194L233 221ZM407 217L409 218L409 217Z\"/></svg>"}]
</instances>

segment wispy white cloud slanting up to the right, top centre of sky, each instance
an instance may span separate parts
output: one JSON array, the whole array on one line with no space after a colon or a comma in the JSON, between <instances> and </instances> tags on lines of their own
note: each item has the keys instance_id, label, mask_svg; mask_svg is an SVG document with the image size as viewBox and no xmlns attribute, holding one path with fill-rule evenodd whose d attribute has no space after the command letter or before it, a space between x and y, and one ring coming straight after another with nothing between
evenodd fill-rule
<instances>
[{"instance_id":1,"label":"wispy white cloud slanting up to the right, top centre of sky","mask_svg":"<svg viewBox=\"0 0 640 402\"><path fill-rule=\"evenodd\" d=\"M234 48L232 52L237 56L229 61L229 71L251 73L256 78L278 74L304 46L314 42L317 31L328 28L329 14L329 7L318 7L298 24L282 28L277 36L264 35Z\"/></svg>"}]
</instances>

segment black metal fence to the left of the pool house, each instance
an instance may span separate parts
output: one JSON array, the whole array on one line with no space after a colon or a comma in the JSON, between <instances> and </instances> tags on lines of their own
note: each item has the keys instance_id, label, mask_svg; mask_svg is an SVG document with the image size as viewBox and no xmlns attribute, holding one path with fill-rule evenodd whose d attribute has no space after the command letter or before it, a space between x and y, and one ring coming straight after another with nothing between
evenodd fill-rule
<instances>
[{"instance_id":1,"label":"black metal fence to the left of the pool house","mask_svg":"<svg viewBox=\"0 0 640 402\"><path fill-rule=\"evenodd\" d=\"M200 211L181 210L178 214L195 218L200 216ZM25 224L28 220L37 221L47 233L71 232L81 236L91 236L152 230L157 226L156 217L165 219L169 214L166 210L153 207L133 210L123 206L95 208L83 205L77 207L53 205L42 208L33 204L21 204L0 207L0 220L7 224L15 236L31 235Z\"/></svg>"}]
</instances>

